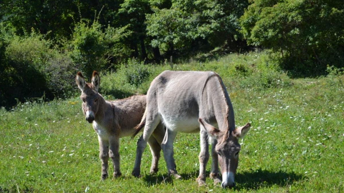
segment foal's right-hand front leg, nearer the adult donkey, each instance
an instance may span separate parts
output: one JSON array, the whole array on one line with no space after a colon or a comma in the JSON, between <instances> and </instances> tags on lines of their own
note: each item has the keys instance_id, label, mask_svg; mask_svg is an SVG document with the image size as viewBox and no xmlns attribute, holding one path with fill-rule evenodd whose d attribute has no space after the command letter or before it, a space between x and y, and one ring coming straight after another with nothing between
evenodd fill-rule
<instances>
[{"instance_id":1,"label":"foal's right-hand front leg, nearer the adult donkey","mask_svg":"<svg viewBox=\"0 0 344 193\"><path fill-rule=\"evenodd\" d=\"M110 138L110 158L114 164L114 178L118 178L121 175L121 170L119 167L119 137Z\"/></svg>"}]
</instances>

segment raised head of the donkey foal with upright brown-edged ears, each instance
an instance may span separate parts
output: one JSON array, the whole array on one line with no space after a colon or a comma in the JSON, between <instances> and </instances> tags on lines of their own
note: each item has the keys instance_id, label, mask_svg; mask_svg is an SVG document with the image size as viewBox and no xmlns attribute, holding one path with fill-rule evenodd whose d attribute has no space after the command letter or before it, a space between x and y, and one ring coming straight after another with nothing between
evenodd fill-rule
<instances>
[{"instance_id":1,"label":"raised head of the donkey foal with upright brown-edged ears","mask_svg":"<svg viewBox=\"0 0 344 193\"><path fill-rule=\"evenodd\" d=\"M102 96L98 93L100 77L97 71L93 71L92 82L85 82L85 79L81 72L78 72L75 77L76 84L81 90L80 99L83 101L82 107L86 121L92 123L95 119L95 115L99 109L99 99Z\"/></svg>"}]
</instances>

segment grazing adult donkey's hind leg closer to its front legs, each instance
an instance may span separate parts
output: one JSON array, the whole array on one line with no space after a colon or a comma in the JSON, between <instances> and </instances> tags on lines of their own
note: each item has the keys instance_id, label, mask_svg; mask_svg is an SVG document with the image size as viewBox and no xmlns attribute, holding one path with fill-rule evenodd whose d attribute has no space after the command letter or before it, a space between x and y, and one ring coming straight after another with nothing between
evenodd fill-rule
<instances>
[{"instance_id":1,"label":"grazing adult donkey's hind leg closer to its front legs","mask_svg":"<svg viewBox=\"0 0 344 193\"><path fill-rule=\"evenodd\" d=\"M177 174L176 165L173 158L173 141L176 135L177 132L172 132L171 130L167 129L164 140L161 144L161 148L164 152L164 158L169 174L172 174L176 179L181 179L182 177Z\"/></svg>"}]
</instances>

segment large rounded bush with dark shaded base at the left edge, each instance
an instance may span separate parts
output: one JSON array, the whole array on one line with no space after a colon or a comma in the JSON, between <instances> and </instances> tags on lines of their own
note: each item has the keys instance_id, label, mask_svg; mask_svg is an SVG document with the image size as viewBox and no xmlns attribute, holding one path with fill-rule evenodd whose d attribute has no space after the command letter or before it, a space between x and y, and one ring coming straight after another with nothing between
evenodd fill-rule
<instances>
[{"instance_id":1,"label":"large rounded bush with dark shaded base at the left edge","mask_svg":"<svg viewBox=\"0 0 344 193\"><path fill-rule=\"evenodd\" d=\"M42 97L69 96L74 87L77 66L65 52L52 47L43 35L32 32L13 36L6 47L1 76L4 92L0 106L11 107L19 101ZM4 66L6 64L6 66Z\"/></svg>"}]
</instances>

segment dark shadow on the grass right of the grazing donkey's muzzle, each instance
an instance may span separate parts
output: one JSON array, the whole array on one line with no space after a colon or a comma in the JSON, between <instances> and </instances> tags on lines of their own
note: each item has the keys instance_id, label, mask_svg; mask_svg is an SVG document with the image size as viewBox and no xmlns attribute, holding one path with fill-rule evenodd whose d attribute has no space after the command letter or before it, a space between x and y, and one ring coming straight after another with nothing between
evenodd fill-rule
<instances>
[{"instance_id":1,"label":"dark shadow on the grass right of the grazing donkey's muzzle","mask_svg":"<svg viewBox=\"0 0 344 193\"><path fill-rule=\"evenodd\" d=\"M253 189L257 190L263 187L277 185L285 187L304 179L303 175L294 172L271 172L267 170L251 170L247 172L237 173L235 181L237 182L236 190Z\"/></svg>"}]
</instances>

